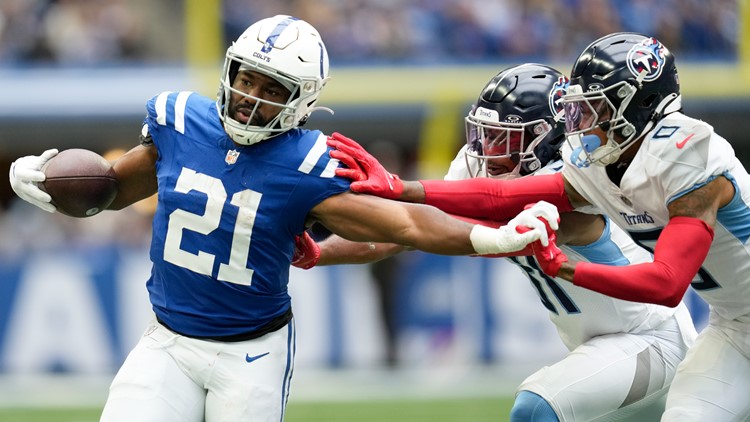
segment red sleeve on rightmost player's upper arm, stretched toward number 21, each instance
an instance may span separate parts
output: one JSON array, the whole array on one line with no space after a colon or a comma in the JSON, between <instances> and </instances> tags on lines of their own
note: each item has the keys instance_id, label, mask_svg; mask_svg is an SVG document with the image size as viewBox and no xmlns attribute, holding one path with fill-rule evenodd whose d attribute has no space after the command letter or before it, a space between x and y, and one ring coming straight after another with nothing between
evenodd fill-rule
<instances>
[{"instance_id":1,"label":"red sleeve on rightmost player's upper arm, stretched toward number 21","mask_svg":"<svg viewBox=\"0 0 750 422\"><path fill-rule=\"evenodd\" d=\"M477 177L466 180L420 180L425 203L467 217L507 221L524 206L547 201L563 213L572 211L565 181L560 173L497 180Z\"/></svg>"}]
</instances>

